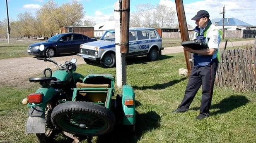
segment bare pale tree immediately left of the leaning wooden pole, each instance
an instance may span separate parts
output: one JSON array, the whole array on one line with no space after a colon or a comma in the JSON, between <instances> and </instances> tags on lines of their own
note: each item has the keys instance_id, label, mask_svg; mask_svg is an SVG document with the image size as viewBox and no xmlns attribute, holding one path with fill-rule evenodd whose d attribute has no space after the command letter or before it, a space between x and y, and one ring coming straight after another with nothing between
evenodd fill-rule
<instances>
[{"instance_id":1,"label":"bare pale tree immediately left of the leaning wooden pole","mask_svg":"<svg viewBox=\"0 0 256 143\"><path fill-rule=\"evenodd\" d=\"M176 12L173 7L166 5L157 5L154 13L155 28L157 27L174 27L176 23Z\"/></svg>"}]
</instances>

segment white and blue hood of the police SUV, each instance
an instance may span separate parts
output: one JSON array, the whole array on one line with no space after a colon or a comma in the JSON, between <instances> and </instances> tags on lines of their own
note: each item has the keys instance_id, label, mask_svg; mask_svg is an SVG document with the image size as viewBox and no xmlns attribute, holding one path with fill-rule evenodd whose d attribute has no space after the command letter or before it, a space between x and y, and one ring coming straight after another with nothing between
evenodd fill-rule
<instances>
[{"instance_id":1,"label":"white and blue hood of the police SUV","mask_svg":"<svg viewBox=\"0 0 256 143\"><path fill-rule=\"evenodd\" d=\"M93 42L82 44L82 46L83 46L82 48L86 48L86 49L94 49L95 47L99 47L99 49L104 49L104 48L115 47L115 42L99 40L99 41L93 41Z\"/></svg>"}]
</instances>

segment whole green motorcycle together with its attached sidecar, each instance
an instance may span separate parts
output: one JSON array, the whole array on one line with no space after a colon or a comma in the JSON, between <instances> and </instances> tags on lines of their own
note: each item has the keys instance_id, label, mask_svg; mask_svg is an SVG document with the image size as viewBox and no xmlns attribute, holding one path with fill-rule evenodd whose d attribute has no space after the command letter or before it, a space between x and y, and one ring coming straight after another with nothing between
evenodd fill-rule
<instances>
[{"instance_id":1,"label":"whole green motorcycle together with its attached sidecar","mask_svg":"<svg viewBox=\"0 0 256 143\"><path fill-rule=\"evenodd\" d=\"M107 134L117 124L134 132L133 88L123 85L121 95L114 97L113 75L89 74L83 77L74 73L75 61L72 59L64 65L52 61L62 68L50 77L29 79L40 82L42 87L27 99L27 105L31 107L27 133L36 134L41 142L51 142L56 131L63 131L63 134L79 142L84 136Z\"/></svg>"}]
</instances>

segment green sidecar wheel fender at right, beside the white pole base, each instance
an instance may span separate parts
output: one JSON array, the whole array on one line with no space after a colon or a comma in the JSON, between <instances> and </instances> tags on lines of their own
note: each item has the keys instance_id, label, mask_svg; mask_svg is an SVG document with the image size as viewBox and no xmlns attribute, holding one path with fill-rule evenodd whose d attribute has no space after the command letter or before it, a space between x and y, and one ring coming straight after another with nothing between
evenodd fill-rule
<instances>
[{"instance_id":1,"label":"green sidecar wheel fender at right, beside the white pole base","mask_svg":"<svg viewBox=\"0 0 256 143\"><path fill-rule=\"evenodd\" d=\"M122 105L123 105L123 125L135 124L135 105L125 105L126 100L133 100L135 104L135 93L129 85L124 85L122 89Z\"/></svg>"}]
</instances>

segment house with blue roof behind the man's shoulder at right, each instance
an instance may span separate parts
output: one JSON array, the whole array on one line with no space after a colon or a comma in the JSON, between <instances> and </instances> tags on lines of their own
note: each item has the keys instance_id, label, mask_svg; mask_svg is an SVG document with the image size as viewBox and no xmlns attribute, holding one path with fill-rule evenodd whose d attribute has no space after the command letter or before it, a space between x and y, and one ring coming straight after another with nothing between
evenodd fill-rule
<instances>
[{"instance_id":1,"label":"house with blue roof behind the man's shoulder at right","mask_svg":"<svg viewBox=\"0 0 256 143\"><path fill-rule=\"evenodd\" d=\"M211 19L212 23L217 26L217 28L222 29L222 19ZM225 18L224 19L224 29L225 30L249 30L253 27L251 24L241 21L236 18Z\"/></svg>"}]
</instances>

